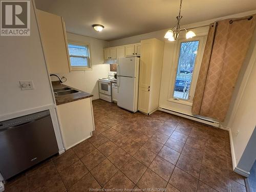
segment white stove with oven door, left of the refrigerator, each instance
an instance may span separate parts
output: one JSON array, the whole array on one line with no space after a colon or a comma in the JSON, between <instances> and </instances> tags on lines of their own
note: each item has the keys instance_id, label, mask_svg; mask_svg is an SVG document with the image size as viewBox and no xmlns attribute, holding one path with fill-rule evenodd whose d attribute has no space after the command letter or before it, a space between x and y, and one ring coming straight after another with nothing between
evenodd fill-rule
<instances>
[{"instance_id":1,"label":"white stove with oven door, left of the refrigerator","mask_svg":"<svg viewBox=\"0 0 256 192\"><path fill-rule=\"evenodd\" d=\"M99 98L112 101L111 81L116 80L116 72L109 72L108 77L99 78Z\"/></svg>"}]
</instances>

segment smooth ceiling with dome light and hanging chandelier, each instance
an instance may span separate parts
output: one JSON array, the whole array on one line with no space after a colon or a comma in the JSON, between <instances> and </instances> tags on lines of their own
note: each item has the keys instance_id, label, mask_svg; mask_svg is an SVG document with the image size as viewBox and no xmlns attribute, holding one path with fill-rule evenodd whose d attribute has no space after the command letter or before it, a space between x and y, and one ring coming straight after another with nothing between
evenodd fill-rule
<instances>
[{"instance_id":1,"label":"smooth ceiling with dome light and hanging chandelier","mask_svg":"<svg viewBox=\"0 0 256 192\"><path fill-rule=\"evenodd\" d=\"M109 41L172 27L180 1L35 0L35 4L37 9L62 16L68 32ZM184 0L181 25L255 9L255 0ZM105 28L96 32L93 24Z\"/></svg>"}]
</instances>

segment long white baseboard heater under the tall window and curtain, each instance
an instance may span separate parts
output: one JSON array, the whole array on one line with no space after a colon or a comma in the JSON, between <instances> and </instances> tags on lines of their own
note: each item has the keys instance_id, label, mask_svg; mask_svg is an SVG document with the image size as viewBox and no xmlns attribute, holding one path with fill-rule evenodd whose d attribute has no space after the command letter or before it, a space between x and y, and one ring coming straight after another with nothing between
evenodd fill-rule
<instances>
[{"instance_id":1,"label":"long white baseboard heater under the tall window and curtain","mask_svg":"<svg viewBox=\"0 0 256 192\"><path fill-rule=\"evenodd\" d=\"M170 114L173 114L173 115L177 115L177 116L180 116L180 117L184 117L184 118L187 118L187 119L191 119L191 120L194 120L194 121L197 121L197 122L200 122L200 123L204 123L204 124L207 124L207 125L211 125L211 126L215 126L215 127L220 126L220 122L218 122L218 121L203 119L203 118L187 115L187 114L184 114L184 113L168 110L168 109L165 109L165 108L162 108L162 107L159 107L158 110L166 112L166 113L170 113Z\"/></svg>"}]
</instances>

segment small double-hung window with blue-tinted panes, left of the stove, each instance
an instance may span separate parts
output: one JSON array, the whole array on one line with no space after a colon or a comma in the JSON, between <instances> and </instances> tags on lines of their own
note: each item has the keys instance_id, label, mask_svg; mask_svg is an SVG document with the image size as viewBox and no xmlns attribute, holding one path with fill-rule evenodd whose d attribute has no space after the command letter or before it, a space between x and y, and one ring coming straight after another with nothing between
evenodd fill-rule
<instances>
[{"instance_id":1,"label":"small double-hung window with blue-tinted panes, left of the stove","mask_svg":"<svg viewBox=\"0 0 256 192\"><path fill-rule=\"evenodd\" d=\"M68 48L72 70L91 69L89 45L69 42Z\"/></svg>"}]
</instances>

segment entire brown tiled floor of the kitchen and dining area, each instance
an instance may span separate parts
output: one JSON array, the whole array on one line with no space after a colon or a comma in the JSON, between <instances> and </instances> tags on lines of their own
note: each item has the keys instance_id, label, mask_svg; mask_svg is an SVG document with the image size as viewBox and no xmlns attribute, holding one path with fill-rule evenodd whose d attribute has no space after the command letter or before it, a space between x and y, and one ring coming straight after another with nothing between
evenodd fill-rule
<instances>
[{"instance_id":1,"label":"entire brown tiled floor of the kitchen and dining area","mask_svg":"<svg viewBox=\"0 0 256 192\"><path fill-rule=\"evenodd\" d=\"M7 183L6 191L167 188L246 191L232 172L228 132L157 111L93 101L93 136Z\"/></svg>"}]
</instances>

